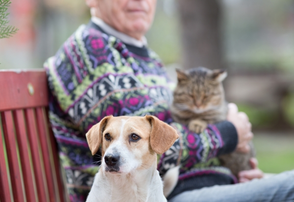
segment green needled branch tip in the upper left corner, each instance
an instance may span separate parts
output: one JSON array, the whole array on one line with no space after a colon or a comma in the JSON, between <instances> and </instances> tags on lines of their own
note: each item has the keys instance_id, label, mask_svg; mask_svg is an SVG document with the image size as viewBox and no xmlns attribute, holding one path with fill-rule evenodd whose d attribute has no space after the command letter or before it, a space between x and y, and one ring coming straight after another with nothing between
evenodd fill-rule
<instances>
[{"instance_id":1,"label":"green needled branch tip in the upper left corner","mask_svg":"<svg viewBox=\"0 0 294 202\"><path fill-rule=\"evenodd\" d=\"M14 26L7 25L9 23L9 13L6 13L6 11L10 3L10 0L0 0L0 39L9 38L18 30L18 28L15 28Z\"/></svg>"}]
</instances>

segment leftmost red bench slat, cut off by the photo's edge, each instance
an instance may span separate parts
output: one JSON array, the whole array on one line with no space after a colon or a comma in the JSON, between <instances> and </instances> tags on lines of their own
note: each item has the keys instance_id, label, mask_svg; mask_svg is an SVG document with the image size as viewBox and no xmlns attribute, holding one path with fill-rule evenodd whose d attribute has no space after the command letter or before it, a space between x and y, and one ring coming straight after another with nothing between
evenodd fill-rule
<instances>
[{"instance_id":1,"label":"leftmost red bench slat, cut off by the photo's edge","mask_svg":"<svg viewBox=\"0 0 294 202\"><path fill-rule=\"evenodd\" d=\"M1 125L0 123L0 127ZM0 128L0 201L11 202L3 145L4 142L2 141L2 132Z\"/></svg>"}]
</instances>

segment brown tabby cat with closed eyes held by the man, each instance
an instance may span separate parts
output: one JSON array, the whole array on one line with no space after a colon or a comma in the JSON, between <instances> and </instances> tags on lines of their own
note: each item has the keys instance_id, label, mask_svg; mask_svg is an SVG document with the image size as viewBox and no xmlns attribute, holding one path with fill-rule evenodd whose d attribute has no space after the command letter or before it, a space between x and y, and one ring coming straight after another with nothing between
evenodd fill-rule
<instances>
[{"instance_id":1,"label":"brown tabby cat with closed eyes held by the man","mask_svg":"<svg viewBox=\"0 0 294 202\"><path fill-rule=\"evenodd\" d=\"M171 107L175 122L200 133L208 124L226 120L228 107L222 86L227 75L225 71L204 67L176 71L178 84L173 92ZM250 147L249 153L234 151L219 156L221 165L229 168L235 176L240 171L251 169L249 159L255 154L252 143Z\"/></svg>"}]
</instances>

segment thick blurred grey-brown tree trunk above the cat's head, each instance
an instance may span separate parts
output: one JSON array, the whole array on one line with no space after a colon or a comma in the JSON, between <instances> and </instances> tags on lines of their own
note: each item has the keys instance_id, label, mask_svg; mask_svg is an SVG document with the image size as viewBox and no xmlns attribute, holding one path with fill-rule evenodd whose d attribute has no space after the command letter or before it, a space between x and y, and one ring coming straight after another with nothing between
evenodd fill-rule
<instances>
[{"instance_id":1,"label":"thick blurred grey-brown tree trunk above the cat's head","mask_svg":"<svg viewBox=\"0 0 294 202\"><path fill-rule=\"evenodd\" d=\"M184 69L223 68L219 0L178 0Z\"/></svg>"}]
</instances>

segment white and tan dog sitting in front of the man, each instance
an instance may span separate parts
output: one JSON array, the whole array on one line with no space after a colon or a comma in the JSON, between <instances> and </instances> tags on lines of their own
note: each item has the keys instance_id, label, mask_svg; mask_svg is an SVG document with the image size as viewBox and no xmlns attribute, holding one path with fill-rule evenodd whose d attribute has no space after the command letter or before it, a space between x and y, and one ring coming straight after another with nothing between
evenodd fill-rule
<instances>
[{"instance_id":1,"label":"white and tan dog sitting in front of the man","mask_svg":"<svg viewBox=\"0 0 294 202\"><path fill-rule=\"evenodd\" d=\"M107 116L86 134L102 162L86 202L167 202L157 155L169 150L178 134L154 116Z\"/></svg>"}]
</instances>

